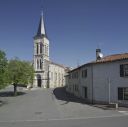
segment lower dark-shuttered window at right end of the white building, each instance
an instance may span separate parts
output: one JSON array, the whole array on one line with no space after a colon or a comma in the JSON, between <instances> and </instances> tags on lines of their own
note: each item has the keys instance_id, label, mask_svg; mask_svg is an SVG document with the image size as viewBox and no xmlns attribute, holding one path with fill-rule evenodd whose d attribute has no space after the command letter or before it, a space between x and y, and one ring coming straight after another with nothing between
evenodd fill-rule
<instances>
[{"instance_id":1,"label":"lower dark-shuttered window at right end of the white building","mask_svg":"<svg viewBox=\"0 0 128 127\"><path fill-rule=\"evenodd\" d=\"M128 100L128 87L118 88L118 100Z\"/></svg>"}]
</instances>

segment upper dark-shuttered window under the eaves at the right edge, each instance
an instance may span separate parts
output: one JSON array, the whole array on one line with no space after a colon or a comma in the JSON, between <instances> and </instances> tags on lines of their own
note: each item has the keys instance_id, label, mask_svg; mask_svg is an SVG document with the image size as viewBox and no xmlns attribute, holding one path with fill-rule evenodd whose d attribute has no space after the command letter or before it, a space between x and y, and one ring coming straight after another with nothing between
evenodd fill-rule
<instances>
[{"instance_id":1,"label":"upper dark-shuttered window under the eaves at the right edge","mask_svg":"<svg viewBox=\"0 0 128 127\"><path fill-rule=\"evenodd\" d=\"M120 77L128 77L128 64L120 65Z\"/></svg>"}]
</instances>

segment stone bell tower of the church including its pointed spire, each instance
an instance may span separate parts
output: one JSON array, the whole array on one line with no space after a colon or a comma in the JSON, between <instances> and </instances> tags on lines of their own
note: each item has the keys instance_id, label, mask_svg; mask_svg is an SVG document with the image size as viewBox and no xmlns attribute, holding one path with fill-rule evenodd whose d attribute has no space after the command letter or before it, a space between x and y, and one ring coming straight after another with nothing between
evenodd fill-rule
<instances>
[{"instance_id":1,"label":"stone bell tower of the church including its pointed spire","mask_svg":"<svg viewBox=\"0 0 128 127\"><path fill-rule=\"evenodd\" d=\"M39 27L34 36L34 69L35 78L34 86L44 87L48 86L48 72L49 72L49 40L46 35L43 13L40 17Z\"/></svg>"}]
</instances>

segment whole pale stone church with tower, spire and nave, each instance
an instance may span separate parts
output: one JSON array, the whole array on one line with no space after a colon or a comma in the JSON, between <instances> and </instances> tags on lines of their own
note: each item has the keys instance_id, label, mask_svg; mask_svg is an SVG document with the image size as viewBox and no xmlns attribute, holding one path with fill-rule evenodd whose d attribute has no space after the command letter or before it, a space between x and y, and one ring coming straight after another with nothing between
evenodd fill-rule
<instances>
[{"instance_id":1,"label":"whole pale stone church with tower, spire and nave","mask_svg":"<svg viewBox=\"0 0 128 127\"><path fill-rule=\"evenodd\" d=\"M49 57L49 39L43 14L40 17L38 31L34 36L33 65L35 70L33 87L56 88L65 85L64 76L67 68L51 61Z\"/></svg>"}]
</instances>

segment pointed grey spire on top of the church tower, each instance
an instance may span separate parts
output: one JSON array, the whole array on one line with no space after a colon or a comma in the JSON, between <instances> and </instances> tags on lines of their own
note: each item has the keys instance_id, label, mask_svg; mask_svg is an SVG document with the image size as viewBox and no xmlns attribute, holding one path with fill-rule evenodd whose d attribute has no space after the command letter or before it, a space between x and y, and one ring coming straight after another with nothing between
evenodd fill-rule
<instances>
[{"instance_id":1,"label":"pointed grey spire on top of the church tower","mask_svg":"<svg viewBox=\"0 0 128 127\"><path fill-rule=\"evenodd\" d=\"M37 36L41 36L41 35L46 36L43 12L41 13L39 27L38 27L38 31L37 31Z\"/></svg>"}]
</instances>

